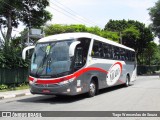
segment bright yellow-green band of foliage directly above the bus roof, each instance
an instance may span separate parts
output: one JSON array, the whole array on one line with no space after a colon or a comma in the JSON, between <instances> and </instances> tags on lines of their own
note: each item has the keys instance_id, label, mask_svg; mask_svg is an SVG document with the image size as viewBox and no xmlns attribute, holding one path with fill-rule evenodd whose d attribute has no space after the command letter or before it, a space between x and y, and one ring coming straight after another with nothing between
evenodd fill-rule
<instances>
[{"instance_id":1,"label":"bright yellow-green band of foliage directly above the bus roof","mask_svg":"<svg viewBox=\"0 0 160 120\"><path fill-rule=\"evenodd\" d=\"M61 24L53 24L45 27L45 34L54 35L59 33L69 33L69 32L89 32L104 38L108 38L118 42L119 35L117 32L104 31L99 27L86 27L85 25L76 24L76 25L61 25Z\"/></svg>"}]
</instances>

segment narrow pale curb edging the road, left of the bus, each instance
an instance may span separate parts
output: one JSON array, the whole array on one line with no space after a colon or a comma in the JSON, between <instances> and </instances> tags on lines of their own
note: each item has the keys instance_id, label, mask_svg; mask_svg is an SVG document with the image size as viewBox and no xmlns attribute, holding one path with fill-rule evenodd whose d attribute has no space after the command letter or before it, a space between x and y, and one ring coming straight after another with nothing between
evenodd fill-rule
<instances>
[{"instance_id":1,"label":"narrow pale curb edging the road, left of the bus","mask_svg":"<svg viewBox=\"0 0 160 120\"><path fill-rule=\"evenodd\" d=\"M3 100L3 99L7 99L7 98L16 98L16 97L22 97L22 96L28 96L28 95L31 95L31 93L19 93L19 94L11 94L11 95L2 95L0 96L0 100Z\"/></svg>"}]
</instances>

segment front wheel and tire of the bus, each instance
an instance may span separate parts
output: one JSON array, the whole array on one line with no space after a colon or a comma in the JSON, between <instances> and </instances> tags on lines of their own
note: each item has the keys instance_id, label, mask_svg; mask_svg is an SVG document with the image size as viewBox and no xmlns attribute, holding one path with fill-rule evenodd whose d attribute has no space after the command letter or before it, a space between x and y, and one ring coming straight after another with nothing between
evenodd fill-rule
<instances>
[{"instance_id":1,"label":"front wheel and tire of the bus","mask_svg":"<svg viewBox=\"0 0 160 120\"><path fill-rule=\"evenodd\" d=\"M97 84L95 81L91 81L89 84L88 97L94 97L97 93Z\"/></svg>"}]
</instances>

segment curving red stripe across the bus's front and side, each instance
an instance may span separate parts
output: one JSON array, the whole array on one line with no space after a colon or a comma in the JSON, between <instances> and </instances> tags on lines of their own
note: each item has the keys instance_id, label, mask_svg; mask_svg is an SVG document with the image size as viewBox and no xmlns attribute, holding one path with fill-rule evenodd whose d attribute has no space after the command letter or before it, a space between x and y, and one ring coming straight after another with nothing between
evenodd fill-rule
<instances>
[{"instance_id":1,"label":"curving red stripe across the bus's front and side","mask_svg":"<svg viewBox=\"0 0 160 120\"><path fill-rule=\"evenodd\" d=\"M78 70L77 72L73 73L72 75L68 75L68 76L65 76L65 77L61 77L61 78L55 78L55 79L39 79L37 78L37 81L36 83L37 84L55 84L55 83L59 83L59 82L62 82L62 81L67 81L69 79L72 79L75 77L78 78L80 75L82 75L83 73L85 72L88 72L88 71L99 71L99 72L103 72L103 73L108 73L106 70L103 70L101 68L95 68L95 67L89 67L89 68L83 68L81 70ZM29 77L29 81L34 81L34 77Z\"/></svg>"}]
</instances>

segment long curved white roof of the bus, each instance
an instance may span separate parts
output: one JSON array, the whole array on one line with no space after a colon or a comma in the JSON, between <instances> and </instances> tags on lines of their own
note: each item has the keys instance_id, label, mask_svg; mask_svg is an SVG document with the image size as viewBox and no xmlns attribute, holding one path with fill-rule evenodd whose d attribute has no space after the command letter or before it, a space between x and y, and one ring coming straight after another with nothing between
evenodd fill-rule
<instances>
[{"instance_id":1,"label":"long curved white roof of the bus","mask_svg":"<svg viewBox=\"0 0 160 120\"><path fill-rule=\"evenodd\" d=\"M91 33L84 33L84 32L62 33L62 34L51 35L51 36L48 36L48 37L41 38L40 40L38 40L38 43L60 41L60 40L63 41L63 40L66 40L66 39L77 39L77 38L91 38L91 39L102 41L102 42L105 42L105 43L108 43L108 44L111 44L111 45L115 45L115 46L118 46L118 47L121 47L121 48L125 48L125 49L131 50L131 51L135 51L134 49L129 48L127 46L124 46L122 44L119 44L117 42L108 40L106 38L103 38L103 37L100 37L100 36L97 36L97 35L94 35L94 34L91 34Z\"/></svg>"}]
</instances>

